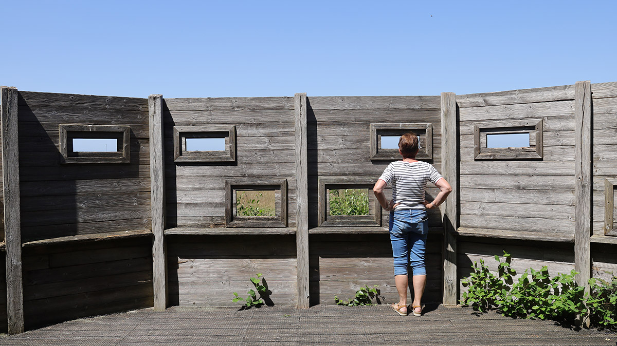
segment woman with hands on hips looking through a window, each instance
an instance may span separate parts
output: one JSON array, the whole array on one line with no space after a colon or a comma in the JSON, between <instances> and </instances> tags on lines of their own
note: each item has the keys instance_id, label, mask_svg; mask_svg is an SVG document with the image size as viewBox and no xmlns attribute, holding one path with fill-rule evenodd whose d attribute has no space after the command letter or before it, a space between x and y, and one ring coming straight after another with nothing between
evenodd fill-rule
<instances>
[{"instance_id":1,"label":"woman with hands on hips looking through a window","mask_svg":"<svg viewBox=\"0 0 617 346\"><path fill-rule=\"evenodd\" d=\"M392 305L395 312L407 316L407 267L413 270L413 315L422 315L421 299L426 285L424 251L428 235L426 210L443 203L452 191L450 184L429 163L415 159L418 154L418 137L407 133L400 137L399 153L402 161L389 164L384 170L373 192L379 204L390 212L390 240L394 256L394 283L399 292L399 302ZM426 182L439 188L439 194L432 202L424 199ZM392 185L392 200L388 203L383 188Z\"/></svg>"}]
</instances>

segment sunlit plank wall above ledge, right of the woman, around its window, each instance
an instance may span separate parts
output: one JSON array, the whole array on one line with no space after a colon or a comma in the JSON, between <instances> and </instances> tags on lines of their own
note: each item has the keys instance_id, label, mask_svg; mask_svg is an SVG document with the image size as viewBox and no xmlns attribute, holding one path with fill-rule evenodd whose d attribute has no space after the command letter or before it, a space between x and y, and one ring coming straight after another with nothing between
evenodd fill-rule
<instances>
[{"instance_id":1,"label":"sunlit plank wall above ledge, right of the woman, around its window","mask_svg":"<svg viewBox=\"0 0 617 346\"><path fill-rule=\"evenodd\" d=\"M573 86L457 95L460 227L574 238ZM474 123L544 121L544 159L474 159Z\"/></svg>"}]
</instances>

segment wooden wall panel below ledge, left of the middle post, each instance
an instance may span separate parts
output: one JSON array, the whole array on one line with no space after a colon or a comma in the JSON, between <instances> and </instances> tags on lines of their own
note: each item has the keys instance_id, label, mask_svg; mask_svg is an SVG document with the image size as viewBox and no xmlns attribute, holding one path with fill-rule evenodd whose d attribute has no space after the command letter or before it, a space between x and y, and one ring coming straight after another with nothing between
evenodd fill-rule
<instances>
[{"instance_id":1,"label":"wooden wall panel below ledge, left of the middle post","mask_svg":"<svg viewBox=\"0 0 617 346\"><path fill-rule=\"evenodd\" d=\"M271 304L297 304L294 235L168 236L171 305L231 306L233 292L246 298L249 278L262 273Z\"/></svg>"}]
</instances>

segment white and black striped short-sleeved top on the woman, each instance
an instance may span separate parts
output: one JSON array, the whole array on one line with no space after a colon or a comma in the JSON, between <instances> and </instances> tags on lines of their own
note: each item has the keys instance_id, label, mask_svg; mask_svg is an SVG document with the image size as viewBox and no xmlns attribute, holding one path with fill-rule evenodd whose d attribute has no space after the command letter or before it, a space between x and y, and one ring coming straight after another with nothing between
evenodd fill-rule
<instances>
[{"instance_id":1,"label":"white and black striped short-sleeved top on the woman","mask_svg":"<svg viewBox=\"0 0 617 346\"><path fill-rule=\"evenodd\" d=\"M395 161L379 177L386 185L392 183L392 199L400 203L395 210L426 209L422 204L426 182L437 183L441 178L433 165L423 161Z\"/></svg>"}]
</instances>

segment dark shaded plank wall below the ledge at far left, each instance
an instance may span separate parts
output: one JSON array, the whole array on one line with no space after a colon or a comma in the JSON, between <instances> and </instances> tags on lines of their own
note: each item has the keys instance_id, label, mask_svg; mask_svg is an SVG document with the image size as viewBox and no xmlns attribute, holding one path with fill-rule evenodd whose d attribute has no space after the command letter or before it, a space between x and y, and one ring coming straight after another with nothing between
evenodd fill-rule
<instances>
[{"instance_id":1,"label":"dark shaded plank wall below the ledge at far left","mask_svg":"<svg viewBox=\"0 0 617 346\"><path fill-rule=\"evenodd\" d=\"M25 247L27 329L152 307L151 238Z\"/></svg>"}]
</instances>

